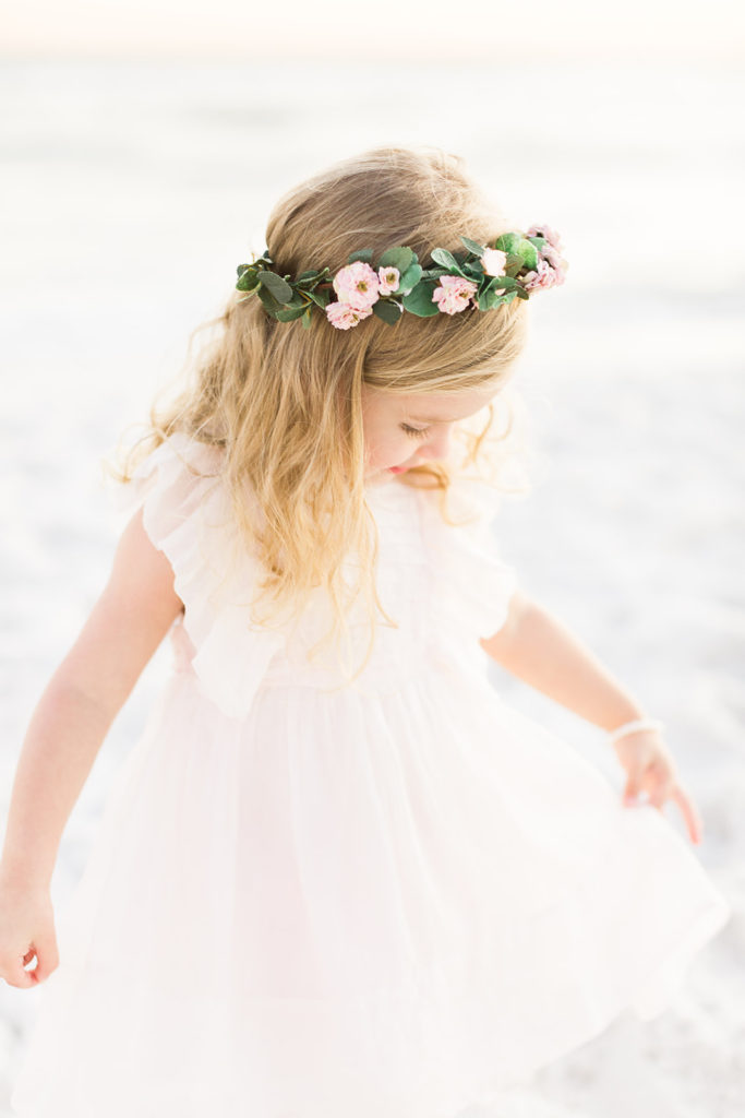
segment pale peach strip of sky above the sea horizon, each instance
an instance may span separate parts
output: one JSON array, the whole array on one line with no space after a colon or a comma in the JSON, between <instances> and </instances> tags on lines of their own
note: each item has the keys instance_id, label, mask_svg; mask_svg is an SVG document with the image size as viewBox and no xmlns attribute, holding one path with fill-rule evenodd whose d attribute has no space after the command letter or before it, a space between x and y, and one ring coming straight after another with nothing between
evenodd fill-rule
<instances>
[{"instance_id":1,"label":"pale peach strip of sky above the sea horizon","mask_svg":"<svg viewBox=\"0 0 745 1118\"><path fill-rule=\"evenodd\" d=\"M735 0L26 0L2 17L0 57L672 59L737 64L745 12ZM329 88L333 75L329 75ZM412 96L402 70L402 96Z\"/></svg>"}]
</instances>

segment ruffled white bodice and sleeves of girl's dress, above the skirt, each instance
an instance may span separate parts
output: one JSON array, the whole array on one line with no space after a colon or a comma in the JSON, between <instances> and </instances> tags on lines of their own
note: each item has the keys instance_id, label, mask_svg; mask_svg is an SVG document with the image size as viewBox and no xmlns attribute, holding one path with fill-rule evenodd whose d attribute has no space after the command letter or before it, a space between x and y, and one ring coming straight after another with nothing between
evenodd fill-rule
<instances>
[{"instance_id":1,"label":"ruffled white bodice and sleeves of girl's dress, above the skirt","mask_svg":"<svg viewBox=\"0 0 745 1118\"><path fill-rule=\"evenodd\" d=\"M246 555L226 577L226 544L235 539L226 538L231 533L227 494L212 470L219 453L185 434L172 435L140 464L133 484L135 504L144 505L145 529L168 556L184 603L170 633L174 666L193 672L210 699L240 718L261 685L329 691L346 685L366 656L371 629L359 594L341 644L344 667L333 644L309 654L333 619L323 588L312 593L292 625L266 629L254 624L248 603L261 568ZM191 472L189 463L207 476ZM498 559L490 540L494 501L483 491L469 492L462 482L453 484L449 499L451 515L459 521L470 517L467 523L447 524L433 491L394 479L366 487L379 532L378 595L398 627L379 614L370 659L348 685L398 690L433 662L470 662L486 670L478 637L504 623L515 574ZM343 568L350 586L356 577L353 565L350 557Z\"/></svg>"}]
</instances>

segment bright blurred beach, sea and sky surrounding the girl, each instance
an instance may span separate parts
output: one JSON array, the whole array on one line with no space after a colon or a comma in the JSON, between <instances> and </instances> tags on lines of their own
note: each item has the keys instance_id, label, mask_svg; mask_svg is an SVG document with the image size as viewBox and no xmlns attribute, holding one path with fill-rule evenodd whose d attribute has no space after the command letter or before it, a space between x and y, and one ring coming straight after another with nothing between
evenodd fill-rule
<instances>
[{"instance_id":1,"label":"bright blurred beach, sea and sky surrounding the girl","mask_svg":"<svg viewBox=\"0 0 745 1118\"><path fill-rule=\"evenodd\" d=\"M531 301L516 377L531 492L505 500L497 542L666 721L704 819L695 854L735 915L669 1011L620 1017L499 1118L734 1118L745 1098L744 28L716 0L28 0L3 16L3 819L34 707L111 567L101 461L265 247L275 199L365 148L438 144L516 227L562 235L567 282ZM169 664L164 645L96 759L56 904ZM620 795L601 731L489 666ZM0 983L0 1115L42 993Z\"/></svg>"}]
</instances>

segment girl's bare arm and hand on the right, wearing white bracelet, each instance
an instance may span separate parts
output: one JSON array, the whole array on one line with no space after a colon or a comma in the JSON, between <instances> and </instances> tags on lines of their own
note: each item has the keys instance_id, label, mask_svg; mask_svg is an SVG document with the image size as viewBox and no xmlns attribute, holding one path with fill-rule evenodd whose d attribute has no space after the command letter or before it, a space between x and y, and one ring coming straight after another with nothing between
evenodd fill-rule
<instances>
[{"instance_id":1,"label":"girl's bare arm and hand on the right, wearing white bracelet","mask_svg":"<svg viewBox=\"0 0 745 1118\"><path fill-rule=\"evenodd\" d=\"M554 614L516 590L503 627L479 644L510 674L603 730L644 718L636 699ZM678 805L691 842L701 841L698 809L680 783L676 764L655 730L637 730L613 742L627 773L624 804L641 792L662 811L670 797Z\"/></svg>"}]
</instances>

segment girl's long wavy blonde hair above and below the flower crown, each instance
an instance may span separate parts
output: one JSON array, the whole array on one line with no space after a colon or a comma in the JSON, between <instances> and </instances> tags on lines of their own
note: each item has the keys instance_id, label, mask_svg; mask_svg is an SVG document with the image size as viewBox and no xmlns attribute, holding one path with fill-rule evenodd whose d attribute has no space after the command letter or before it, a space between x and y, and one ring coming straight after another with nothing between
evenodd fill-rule
<instances>
[{"instance_id":1,"label":"girl's long wavy blonde hair above and below the flower crown","mask_svg":"<svg viewBox=\"0 0 745 1118\"><path fill-rule=\"evenodd\" d=\"M493 243L508 228L460 157L430 146L384 146L287 191L269 216L266 248L281 275L324 265L334 273L355 249L372 248L375 259L393 245L411 246L426 266L436 246L459 250L461 235ZM356 679L372 653L376 609L398 627L375 588L379 539L364 500L362 385L385 392L485 386L496 392L525 344L526 304L515 300L488 312L427 319L405 313L395 326L373 315L351 330L335 329L317 310L304 329L297 321L276 322L257 296L241 301L232 291L223 313L192 339L214 326L217 335L191 368L192 382L161 414L153 404L146 434L114 476L130 482L141 458L174 432L222 448L220 476L238 538L266 568L252 601L255 623L271 628L299 619L321 586L334 622L312 655L329 641L338 650L351 600L363 593L371 636ZM493 420L490 404L483 430L464 427L464 467L486 461ZM453 523L446 510L449 466L429 462L398 484L410 475L411 484L441 491L441 514ZM350 548L361 557L351 599L342 576ZM256 607L267 599L269 609L260 615Z\"/></svg>"}]
</instances>

